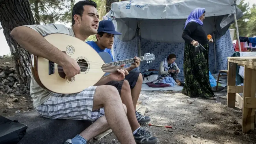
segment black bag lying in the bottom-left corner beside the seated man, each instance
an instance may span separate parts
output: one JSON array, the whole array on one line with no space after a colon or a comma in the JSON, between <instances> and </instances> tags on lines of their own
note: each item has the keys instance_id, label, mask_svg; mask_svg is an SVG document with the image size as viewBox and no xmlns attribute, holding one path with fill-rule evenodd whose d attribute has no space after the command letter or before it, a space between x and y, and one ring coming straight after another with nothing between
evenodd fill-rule
<instances>
[{"instance_id":1,"label":"black bag lying in the bottom-left corner beside the seated man","mask_svg":"<svg viewBox=\"0 0 256 144\"><path fill-rule=\"evenodd\" d=\"M26 134L28 126L9 120L0 115L0 143L17 144Z\"/></svg>"}]
</instances>

